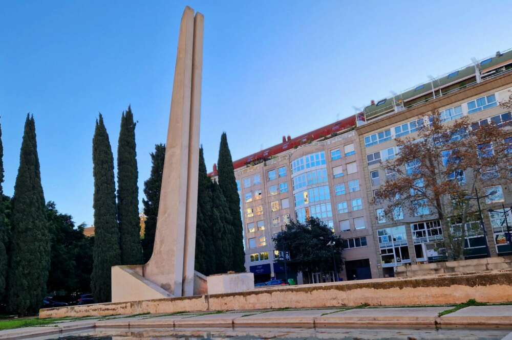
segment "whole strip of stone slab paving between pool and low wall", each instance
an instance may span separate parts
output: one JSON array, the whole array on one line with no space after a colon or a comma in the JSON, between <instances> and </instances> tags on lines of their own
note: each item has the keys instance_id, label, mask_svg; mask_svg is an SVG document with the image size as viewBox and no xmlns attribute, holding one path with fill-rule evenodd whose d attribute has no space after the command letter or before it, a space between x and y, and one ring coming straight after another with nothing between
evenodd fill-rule
<instances>
[{"instance_id":1,"label":"whole strip of stone slab paving between pool and low wall","mask_svg":"<svg viewBox=\"0 0 512 340\"><path fill-rule=\"evenodd\" d=\"M109 328L242 328L242 327L301 327L322 328L346 326L475 326L512 329L512 305L470 306L439 317L453 307L381 307L352 309L295 309L268 311L198 312L174 315L134 315L103 319L83 319L40 327L0 331L0 339L28 338L63 334L73 330L106 330ZM510 336L512 338L512 336Z\"/></svg>"}]
</instances>

